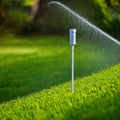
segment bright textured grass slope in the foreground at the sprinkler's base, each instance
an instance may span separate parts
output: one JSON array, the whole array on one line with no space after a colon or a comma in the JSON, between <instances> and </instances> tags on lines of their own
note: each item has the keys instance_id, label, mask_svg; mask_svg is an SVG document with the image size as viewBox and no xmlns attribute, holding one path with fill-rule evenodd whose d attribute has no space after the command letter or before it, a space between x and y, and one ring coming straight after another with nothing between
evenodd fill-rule
<instances>
[{"instance_id":1,"label":"bright textured grass slope in the foreground at the sprinkler's base","mask_svg":"<svg viewBox=\"0 0 120 120\"><path fill-rule=\"evenodd\" d=\"M1 120L119 120L120 64L98 74L0 104Z\"/></svg>"}]
</instances>

